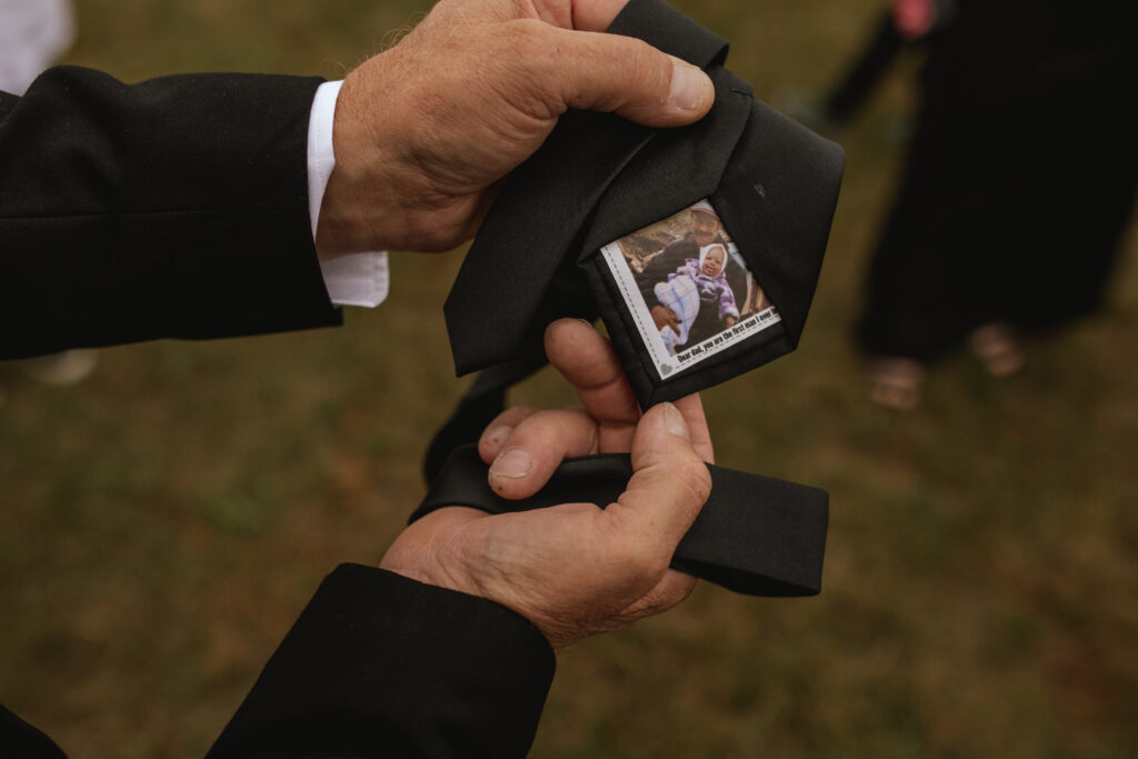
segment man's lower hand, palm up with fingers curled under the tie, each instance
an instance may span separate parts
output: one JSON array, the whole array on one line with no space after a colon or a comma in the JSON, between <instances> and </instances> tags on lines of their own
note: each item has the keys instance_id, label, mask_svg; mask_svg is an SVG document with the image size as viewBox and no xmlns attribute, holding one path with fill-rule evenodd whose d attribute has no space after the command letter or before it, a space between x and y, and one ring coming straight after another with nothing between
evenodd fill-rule
<instances>
[{"instance_id":1,"label":"man's lower hand, palm up with fingers curled under the tie","mask_svg":"<svg viewBox=\"0 0 1138 759\"><path fill-rule=\"evenodd\" d=\"M423 517L381 567L479 595L529 619L554 649L683 601L694 578L668 568L711 488L711 439L699 396L643 418L612 347L575 320L546 331L550 362L584 409L510 409L479 453L508 498L536 493L566 456L632 452L634 476L613 504L567 503L490 515L450 508Z\"/></svg>"}]
</instances>

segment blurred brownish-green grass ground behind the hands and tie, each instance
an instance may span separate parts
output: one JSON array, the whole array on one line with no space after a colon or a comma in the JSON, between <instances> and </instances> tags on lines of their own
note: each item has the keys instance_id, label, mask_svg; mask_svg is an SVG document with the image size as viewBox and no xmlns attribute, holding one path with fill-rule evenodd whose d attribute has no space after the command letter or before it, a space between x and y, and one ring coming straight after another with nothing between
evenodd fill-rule
<instances>
[{"instance_id":1,"label":"blurred brownish-green grass ground behind the hands and tie","mask_svg":"<svg viewBox=\"0 0 1138 759\"><path fill-rule=\"evenodd\" d=\"M683 0L765 99L828 84L877 0ZM339 77L417 0L79 0L69 63ZM914 61L849 160L798 353L706 394L719 462L826 488L817 599L701 586L560 657L535 757L1124 757L1138 751L1138 271L997 382L866 401L850 345ZM53 389L0 366L0 701L75 757L201 754L321 577L376 562L464 381L461 251L398 254L340 330L104 350ZM570 398L543 374L516 394Z\"/></svg>"}]
</instances>

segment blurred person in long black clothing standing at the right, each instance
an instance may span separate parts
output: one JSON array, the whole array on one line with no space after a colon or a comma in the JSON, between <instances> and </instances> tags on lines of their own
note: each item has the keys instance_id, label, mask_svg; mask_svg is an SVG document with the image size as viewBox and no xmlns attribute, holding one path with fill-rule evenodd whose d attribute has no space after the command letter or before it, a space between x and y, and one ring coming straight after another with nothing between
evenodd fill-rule
<instances>
[{"instance_id":1,"label":"blurred person in long black clothing standing at the right","mask_svg":"<svg viewBox=\"0 0 1138 759\"><path fill-rule=\"evenodd\" d=\"M935 25L933 0L904 5L914 28ZM858 327L876 403L916 406L926 366L965 344L1014 374L1022 335L1102 306L1138 181L1135 16L1113 0L959 0L929 38Z\"/></svg>"}]
</instances>

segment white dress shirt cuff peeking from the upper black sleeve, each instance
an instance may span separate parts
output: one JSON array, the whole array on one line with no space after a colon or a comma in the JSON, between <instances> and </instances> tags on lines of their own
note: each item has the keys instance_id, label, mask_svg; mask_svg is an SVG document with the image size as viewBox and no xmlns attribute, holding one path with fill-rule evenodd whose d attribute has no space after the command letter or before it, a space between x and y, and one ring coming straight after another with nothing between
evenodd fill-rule
<instances>
[{"instance_id":1,"label":"white dress shirt cuff peeking from the upper black sleeve","mask_svg":"<svg viewBox=\"0 0 1138 759\"><path fill-rule=\"evenodd\" d=\"M308 217L312 239L316 239L320 206L324 201L328 179L336 167L332 151L332 122L336 99L344 82L324 82L316 89L308 118ZM337 306L366 306L373 308L387 297L387 253L356 253L320 262L328 297Z\"/></svg>"}]
</instances>

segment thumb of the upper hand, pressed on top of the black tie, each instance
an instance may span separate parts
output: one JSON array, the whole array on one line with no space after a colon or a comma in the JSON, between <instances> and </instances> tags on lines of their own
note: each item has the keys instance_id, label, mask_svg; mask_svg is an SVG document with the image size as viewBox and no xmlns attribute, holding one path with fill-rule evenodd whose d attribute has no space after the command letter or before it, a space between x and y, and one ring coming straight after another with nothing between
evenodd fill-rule
<instances>
[{"instance_id":1,"label":"thumb of the upper hand, pressed on top of the black tie","mask_svg":"<svg viewBox=\"0 0 1138 759\"><path fill-rule=\"evenodd\" d=\"M642 40L546 26L555 66L544 67L551 102L616 113L646 126L682 126L715 102L715 86L700 68Z\"/></svg>"}]
</instances>

